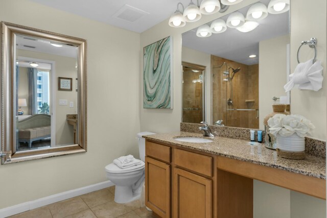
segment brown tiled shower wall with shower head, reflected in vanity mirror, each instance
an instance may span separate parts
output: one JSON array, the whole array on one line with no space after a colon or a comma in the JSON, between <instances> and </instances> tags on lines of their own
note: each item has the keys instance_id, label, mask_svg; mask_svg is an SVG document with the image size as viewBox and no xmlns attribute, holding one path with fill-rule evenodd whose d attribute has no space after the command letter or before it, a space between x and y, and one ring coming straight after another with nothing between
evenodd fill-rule
<instances>
[{"instance_id":1,"label":"brown tiled shower wall with shower head, reflected in vanity mirror","mask_svg":"<svg viewBox=\"0 0 327 218\"><path fill-rule=\"evenodd\" d=\"M224 62L226 64L222 65ZM228 66L234 69L241 68L232 79L233 106L227 106L227 99L231 97L231 94L229 81L224 81L227 77L223 72L228 71ZM211 67L213 72L213 122L222 119L223 124L230 127L259 128L257 111L227 110L259 108L259 65L248 66L212 55Z\"/></svg>"}]
</instances>

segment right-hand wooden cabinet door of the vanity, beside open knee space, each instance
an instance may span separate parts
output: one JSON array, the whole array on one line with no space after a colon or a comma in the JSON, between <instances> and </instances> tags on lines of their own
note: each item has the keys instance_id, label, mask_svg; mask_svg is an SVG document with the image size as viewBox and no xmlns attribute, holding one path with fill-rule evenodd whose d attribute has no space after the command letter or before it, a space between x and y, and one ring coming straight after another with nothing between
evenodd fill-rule
<instances>
[{"instance_id":1,"label":"right-hand wooden cabinet door of the vanity, beside open knee space","mask_svg":"<svg viewBox=\"0 0 327 218\"><path fill-rule=\"evenodd\" d=\"M174 217L211 218L212 180L174 168Z\"/></svg>"}]
</instances>

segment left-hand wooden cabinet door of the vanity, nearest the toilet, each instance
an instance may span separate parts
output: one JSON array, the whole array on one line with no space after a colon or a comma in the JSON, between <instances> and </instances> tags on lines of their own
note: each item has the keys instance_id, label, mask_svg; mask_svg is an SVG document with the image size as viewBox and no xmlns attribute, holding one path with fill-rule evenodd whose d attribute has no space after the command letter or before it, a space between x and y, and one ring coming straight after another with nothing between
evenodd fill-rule
<instances>
[{"instance_id":1,"label":"left-hand wooden cabinet door of the vanity, nearest the toilet","mask_svg":"<svg viewBox=\"0 0 327 218\"><path fill-rule=\"evenodd\" d=\"M170 218L170 165L145 158L145 204L162 218Z\"/></svg>"}]
</instances>

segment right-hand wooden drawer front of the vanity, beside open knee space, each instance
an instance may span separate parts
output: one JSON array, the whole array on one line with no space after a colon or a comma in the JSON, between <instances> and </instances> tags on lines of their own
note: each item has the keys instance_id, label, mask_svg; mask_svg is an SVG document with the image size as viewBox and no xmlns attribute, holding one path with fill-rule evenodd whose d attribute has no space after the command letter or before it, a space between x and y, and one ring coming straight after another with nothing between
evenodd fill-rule
<instances>
[{"instance_id":1,"label":"right-hand wooden drawer front of the vanity, beside open knee space","mask_svg":"<svg viewBox=\"0 0 327 218\"><path fill-rule=\"evenodd\" d=\"M213 158L179 149L174 150L174 163L191 171L213 176Z\"/></svg>"}]
</instances>

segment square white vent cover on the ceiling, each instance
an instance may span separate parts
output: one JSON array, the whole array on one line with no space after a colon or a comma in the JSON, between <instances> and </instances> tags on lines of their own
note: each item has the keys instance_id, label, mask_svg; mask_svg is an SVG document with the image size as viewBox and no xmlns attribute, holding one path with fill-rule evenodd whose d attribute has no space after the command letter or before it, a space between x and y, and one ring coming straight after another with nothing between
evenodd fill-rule
<instances>
[{"instance_id":1,"label":"square white vent cover on the ceiling","mask_svg":"<svg viewBox=\"0 0 327 218\"><path fill-rule=\"evenodd\" d=\"M134 8L129 5L124 5L121 9L119 9L112 17L120 18L128 22L134 22L144 15L150 14L141 9Z\"/></svg>"}]
</instances>

